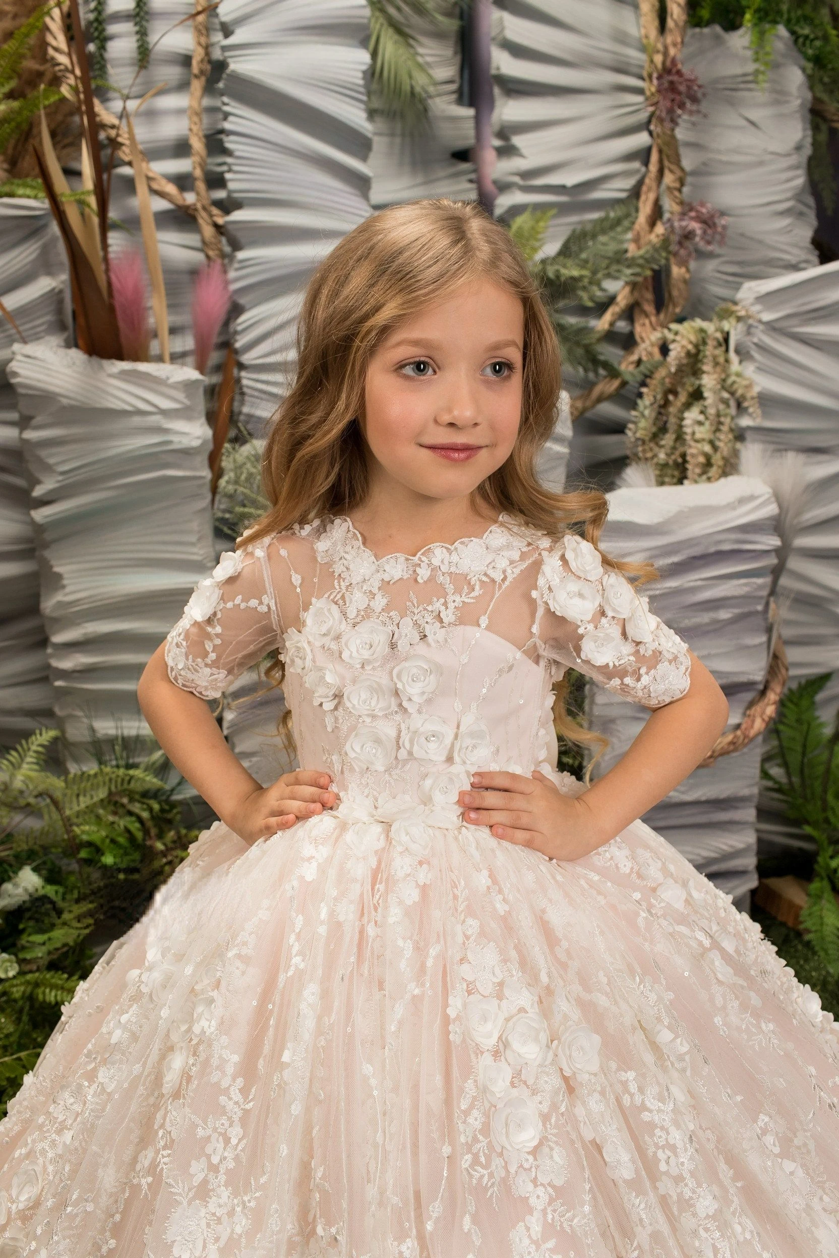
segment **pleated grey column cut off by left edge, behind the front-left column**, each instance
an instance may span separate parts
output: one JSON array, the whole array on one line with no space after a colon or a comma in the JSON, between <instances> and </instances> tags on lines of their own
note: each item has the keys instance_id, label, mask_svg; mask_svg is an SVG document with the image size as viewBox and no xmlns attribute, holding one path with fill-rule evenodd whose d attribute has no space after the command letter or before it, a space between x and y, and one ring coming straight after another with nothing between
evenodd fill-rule
<instances>
[{"instance_id":1,"label":"pleated grey column cut off by left edge, behind the front-left column","mask_svg":"<svg viewBox=\"0 0 839 1258\"><path fill-rule=\"evenodd\" d=\"M63 265L47 204L0 199L0 299L28 341L64 337ZM16 340L0 318L0 746L49 725L53 706L18 403L6 379Z\"/></svg>"}]
</instances>

